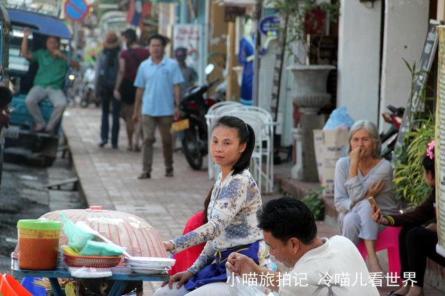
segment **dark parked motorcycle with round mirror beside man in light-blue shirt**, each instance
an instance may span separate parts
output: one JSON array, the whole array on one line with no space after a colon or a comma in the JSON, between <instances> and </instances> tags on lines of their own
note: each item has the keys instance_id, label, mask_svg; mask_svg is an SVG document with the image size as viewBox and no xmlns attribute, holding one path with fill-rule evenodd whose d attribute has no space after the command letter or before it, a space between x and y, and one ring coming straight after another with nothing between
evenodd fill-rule
<instances>
[{"instance_id":1,"label":"dark parked motorcycle with round mirror beside man in light-blue shirt","mask_svg":"<svg viewBox=\"0 0 445 296\"><path fill-rule=\"evenodd\" d=\"M213 70L213 67L209 66L206 67L206 74ZM208 153L205 115L207 110L218 102L212 98L204 99L204 93L218 81L219 79L215 79L204 85L192 88L181 101L181 120L188 120L188 129L184 130L184 137L181 141L182 149L188 164L193 170L201 169L202 158Z\"/></svg>"}]
</instances>

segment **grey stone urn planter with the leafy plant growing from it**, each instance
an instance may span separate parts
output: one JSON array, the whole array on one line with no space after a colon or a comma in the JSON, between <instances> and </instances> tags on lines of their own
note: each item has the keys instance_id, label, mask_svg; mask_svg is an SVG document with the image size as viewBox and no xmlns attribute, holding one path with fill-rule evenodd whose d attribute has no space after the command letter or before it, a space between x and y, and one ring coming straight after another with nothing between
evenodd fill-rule
<instances>
[{"instance_id":1,"label":"grey stone urn planter with the leafy plant growing from it","mask_svg":"<svg viewBox=\"0 0 445 296\"><path fill-rule=\"evenodd\" d=\"M337 22L339 2L317 2L315 0L270 0L282 15L283 42L294 65L287 67L294 76L297 93L294 101L307 114L317 113L330 100L326 92L327 75L333 65L321 59L321 44L325 27ZM317 35L314 42L309 36ZM309 54L316 56L309 65Z\"/></svg>"}]
</instances>

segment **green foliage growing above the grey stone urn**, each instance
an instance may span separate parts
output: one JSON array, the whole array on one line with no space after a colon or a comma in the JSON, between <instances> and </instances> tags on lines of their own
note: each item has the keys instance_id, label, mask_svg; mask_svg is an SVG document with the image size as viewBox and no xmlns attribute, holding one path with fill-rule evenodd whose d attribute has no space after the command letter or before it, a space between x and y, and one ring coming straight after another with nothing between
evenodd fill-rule
<instances>
[{"instance_id":1,"label":"green foliage growing above the grey stone urn","mask_svg":"<svg viewBox=\"0 0 445 296\"><path fill-rule=\"evenodd\" d=\"M320 60L320 47L323 40L324 32L318 35L321 38L315 44L308 42L307 30L323 27L320 23L321 18L317 17L316 10L321 10L325 13L325 22L337 22L340 10L340 3L316 3L315 0L268 0L268 3L273 4L280 15L284 24L282 26L282 33L285 37L285 47L296 63L303 65L308 60L309 52L315 51L317 60ZM296 44L302 44L305 51L305 60L301 60L295 53Z\"/></svg>"}]
</instances>

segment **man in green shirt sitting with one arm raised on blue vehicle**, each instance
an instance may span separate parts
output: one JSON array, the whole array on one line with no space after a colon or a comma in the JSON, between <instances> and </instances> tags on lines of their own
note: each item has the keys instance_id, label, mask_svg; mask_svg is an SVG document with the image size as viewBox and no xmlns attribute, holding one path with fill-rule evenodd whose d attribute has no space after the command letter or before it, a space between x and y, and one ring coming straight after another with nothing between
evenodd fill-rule
<instances>
[{"instance_id":1,"label":"man in green shirt sitting with one arm raised on blue vehicle","mask_svg":"<svg viewBox=\"0 0 445 296\"><path fill-rule=\"evenodd\" d=\"M68 69L67 53L59 50L60 40L54 36L47 37L45 49L29 52L28 36L30 33L29 28L23 29L22 56L27 60L37 61L39 69L34 77L33 88L26 95L26 108L33 117L34 131L56 133L63 110L67 106L67 99L62 90ZM70 65L79 67L79 63L72 59L70 59ZM53 111L48 123L44 121L39 108L39 103L45 98L49 98L53 104Z\"/></svg>"}]
</instances>

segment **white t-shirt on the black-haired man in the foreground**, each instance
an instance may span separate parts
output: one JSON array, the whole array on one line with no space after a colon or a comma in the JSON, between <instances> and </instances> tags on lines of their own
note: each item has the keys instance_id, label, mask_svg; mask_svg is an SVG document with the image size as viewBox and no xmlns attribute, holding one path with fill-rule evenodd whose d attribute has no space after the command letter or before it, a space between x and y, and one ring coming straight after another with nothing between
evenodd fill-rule
<instances>
[{"instance_id":1,"label":"white t-shirt on the black-haired man in the foreground","mask_svg":"<svg viewBox=\"0 0 445 296\"><path fill-rule=\"evenodd\" d=\"M293 270L283 275L280 296L379 295L353 242L343 236L321 240L321 247L304 254Z\"/></svg>"}]
</instances>

